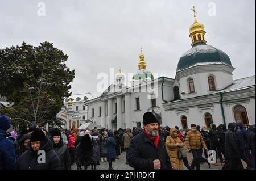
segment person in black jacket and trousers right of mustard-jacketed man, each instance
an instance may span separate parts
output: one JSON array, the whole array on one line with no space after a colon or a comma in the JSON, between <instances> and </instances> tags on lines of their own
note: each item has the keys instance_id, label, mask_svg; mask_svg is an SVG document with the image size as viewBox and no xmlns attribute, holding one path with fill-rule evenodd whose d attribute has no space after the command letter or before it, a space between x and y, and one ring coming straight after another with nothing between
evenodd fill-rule
<instances>
[{"instance_id":1,"label":"person in black jacket and trousers right of mustard-jacketed man","mask_svg":"<svg viewBox=\"0 0 256 181\"><path fill-rule=\"evenodd\" d=\"M221 147L221 144L220 144L221 134L216 129L215 124L210 125L210 127L211 127L211 129L209 131L208 137L210 138L211 149L214 150L216 153L218 153L218 157L220 158L221 164L224 164L222 154L221 154L221 148L220 148ZM217 154L216 154L216 159L215 160L216 160L216 163L217 163Z\"/></svg>"}]
</instances>

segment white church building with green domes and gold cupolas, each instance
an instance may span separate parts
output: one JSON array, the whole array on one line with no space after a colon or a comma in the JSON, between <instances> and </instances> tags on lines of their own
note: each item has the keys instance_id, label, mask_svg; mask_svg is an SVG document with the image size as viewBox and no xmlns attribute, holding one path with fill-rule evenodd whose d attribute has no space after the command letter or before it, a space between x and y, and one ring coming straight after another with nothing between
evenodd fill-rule
<instances>
[{"instance_id":1,"label":"white church building with green domes and gold cupolas","mask_svg":"<svg viewBox=\"0 0 256 181\"><path fill-rule=\"evenodd\" d=\"M142 128L143 114L151 111L163 127L255 124L255 75L234 80L229 56L207 44L204 25L194 18L189 28L192 48L180 57L175 78L154 78L141 53L132 86L123 85L120 69L114 85L86 101L88 120L106 129ZM70 124L67 119L66 128L74 127Z\"/></svg>"}]
</instances>

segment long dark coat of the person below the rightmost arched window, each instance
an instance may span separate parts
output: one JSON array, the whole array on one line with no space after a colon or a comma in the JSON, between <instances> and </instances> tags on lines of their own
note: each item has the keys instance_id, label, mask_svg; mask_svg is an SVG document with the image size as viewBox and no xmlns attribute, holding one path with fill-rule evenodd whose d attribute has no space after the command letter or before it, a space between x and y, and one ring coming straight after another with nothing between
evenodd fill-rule
<instances>
[{"instance_id":1,"label":"long dark coat of the person below the rightmost arched window","mask_svg":"<svg viewBox=\"0 0 256 181\"><path fill-rule=\"evenodd\" d=\"M226 158L240 158L236 136L230 130L225 132L225 155Z\"/></svg>"}]
</instances>

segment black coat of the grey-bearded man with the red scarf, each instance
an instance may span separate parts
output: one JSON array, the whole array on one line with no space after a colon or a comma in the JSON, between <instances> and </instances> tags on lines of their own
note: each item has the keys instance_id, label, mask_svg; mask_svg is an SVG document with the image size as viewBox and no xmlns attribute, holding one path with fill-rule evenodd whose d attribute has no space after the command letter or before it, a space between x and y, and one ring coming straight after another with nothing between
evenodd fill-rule
<instances>
[{"instance_id":1,"label":"black coat of the grey-bearded man with the red scarf","mask_svg":"<svg viewBox=\"0 0 256 181\"><path fill-rule=\"evenodd\" d=\"M161 162L163 170L171 170L171 162L166 151L166 143L162 138L159 138L158 148L155 148L154 143L146 136L144 132L135 136L130 143L128 152L128 163L135 170L153 170L155 159Z\"/></svg>"}]
</instances>

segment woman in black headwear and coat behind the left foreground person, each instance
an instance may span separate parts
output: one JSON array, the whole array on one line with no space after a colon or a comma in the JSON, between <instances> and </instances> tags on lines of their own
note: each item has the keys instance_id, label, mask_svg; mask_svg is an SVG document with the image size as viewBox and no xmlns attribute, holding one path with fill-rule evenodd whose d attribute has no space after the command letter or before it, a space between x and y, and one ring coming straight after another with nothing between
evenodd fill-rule
<instances>
[{"instance_id":1,"label":"woman in black headwear and coat behind the left foreground person","mask_svg":"<svg viewBox=\"0 0 256 181\"><path fill-rule=\"evenodd\" d=\"M60 129L55 128L52 133L53 150L60 158L61 170L71 170L71 158L67 146L63 144Z\"/></svg>"}]
</instances>

